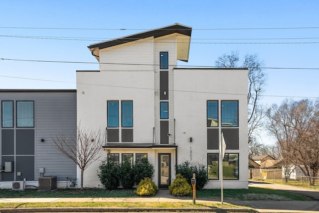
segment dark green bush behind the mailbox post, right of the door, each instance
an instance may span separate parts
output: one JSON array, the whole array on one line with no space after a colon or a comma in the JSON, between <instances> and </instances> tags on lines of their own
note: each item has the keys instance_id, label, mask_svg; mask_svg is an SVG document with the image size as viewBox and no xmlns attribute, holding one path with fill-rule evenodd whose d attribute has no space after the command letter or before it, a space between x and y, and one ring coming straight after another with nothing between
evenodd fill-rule
<instances>
[{"instance_id":1,"label":"dark green bush behind the mailbox post, right of the door","mask_svg":"<svg viewBox=\"0 0 319 213\"><path fill-rule=\"evenodd\" d=\"M175 165L176 174L181 174L186 178L188 184L193 177L193 173L196 175L196 189L201 190L204 188L208 182L207 168L205 165L198 164L197 166L192 166L188 161L183 162L182 164Z\"/></svg>"}]
</instances>

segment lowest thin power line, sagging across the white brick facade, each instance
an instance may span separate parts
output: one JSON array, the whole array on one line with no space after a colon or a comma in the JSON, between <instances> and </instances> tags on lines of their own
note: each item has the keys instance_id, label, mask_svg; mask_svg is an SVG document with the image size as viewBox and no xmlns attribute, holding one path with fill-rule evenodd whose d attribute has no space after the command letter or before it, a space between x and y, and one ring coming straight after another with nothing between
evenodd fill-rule
<instances>
[{"instance_id":1,"label":"lowest thin power line, sagging across the white brick facade","mask_svg":"<svg viewBox=\"0 0 319 213\"><path fill-rule=\"evenodd\" d=\"M115 85L102 85L102 84L89 84L89 83L74 83L66 81L53 81L46 79L34 79L34 78L24 78L24 77L15 77L15 76L2 76L3 78L16 78L24 80L34 80L34 81L45 81L45 82L56 82L56 83L67 83L67 84L81 84L81 85L91 85L91 86L102 86L102 87L115 87L115 88L126 88L126 89L139 89L139 90L152 90L154 88L143 88L143 87L125 87L125 86L115 86ZM184 90L169 90L169 92L183 92L183 93L199 93L199 94L219 94L219 95L238 95L238 96L247 96L247 94L233 94L233 93L214 93L214 92L199 92L199 91L184 91ZM319 97L304 97L304 96L276 96L276 95L260 95L262 97L280 97L280 98L304 98L304 99L318 99Z\"/></svg>"}]
</instances>

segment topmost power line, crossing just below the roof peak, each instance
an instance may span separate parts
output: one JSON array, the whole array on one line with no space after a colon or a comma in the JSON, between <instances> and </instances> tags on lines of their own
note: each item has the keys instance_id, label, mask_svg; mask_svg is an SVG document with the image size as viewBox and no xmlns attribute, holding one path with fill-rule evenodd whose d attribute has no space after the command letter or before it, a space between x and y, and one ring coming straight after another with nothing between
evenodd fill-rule
<instances>
[{"instance_id":1,"label":"topmost power line, crossing just below the roof peak","mask_svg":"<svg viewBox=\"0 0 319 213\"><path fill-rule=\"evenodd\" d=\"M70 28L70 27L10 27L10 26L0 26L0 28L7 29L50 29L50 30L152 30L152 29L142 29L142 28ZM246 28L192 28L192 30L284 30L284 29L319 29L319 27L246 27ZM176 30L176 29L161 29L161 30Z\"/></svg>"}]
</instances>

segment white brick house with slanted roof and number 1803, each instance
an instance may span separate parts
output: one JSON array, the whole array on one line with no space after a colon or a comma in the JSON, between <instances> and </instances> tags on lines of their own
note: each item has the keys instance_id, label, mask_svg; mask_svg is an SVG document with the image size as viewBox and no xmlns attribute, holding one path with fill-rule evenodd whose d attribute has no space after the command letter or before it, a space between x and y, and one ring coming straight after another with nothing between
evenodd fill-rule
<instances>
[{"instance_id":1,"label":"white brick house with slanted roof and number 1803","mask_svg":"<svg viewBox=\"0 0 319 213\"><path fill-rule=\"evenodd\" d=\"M177 60L188 61L190 36L190 27L173 24L88 47L100 69L77 71L77 122L105 129L107 141L85 170L84 187L101 186L106 157L147 156L160 188L184 161L207 165L206 188L220 188L223 132L224 188L248 188L247 70L177 68Z\"/></svg>"}]
</instances>

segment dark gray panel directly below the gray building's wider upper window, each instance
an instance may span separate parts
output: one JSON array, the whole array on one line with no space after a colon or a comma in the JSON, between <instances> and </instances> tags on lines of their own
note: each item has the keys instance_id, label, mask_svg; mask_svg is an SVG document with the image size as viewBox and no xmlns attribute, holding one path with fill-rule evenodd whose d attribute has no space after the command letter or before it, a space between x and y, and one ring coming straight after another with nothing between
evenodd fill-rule
<instances>
[{"instance_id":1,"label":"dark gray panel directly below the gray building's wider upper window","mask_svg":"<svg viewBox=\"0 0 319 213\"><path fill-rule=\"evenodd\" d=\"M34 129L16 130L16 154L34 155Z\"/></svg>"}]
</instances>

